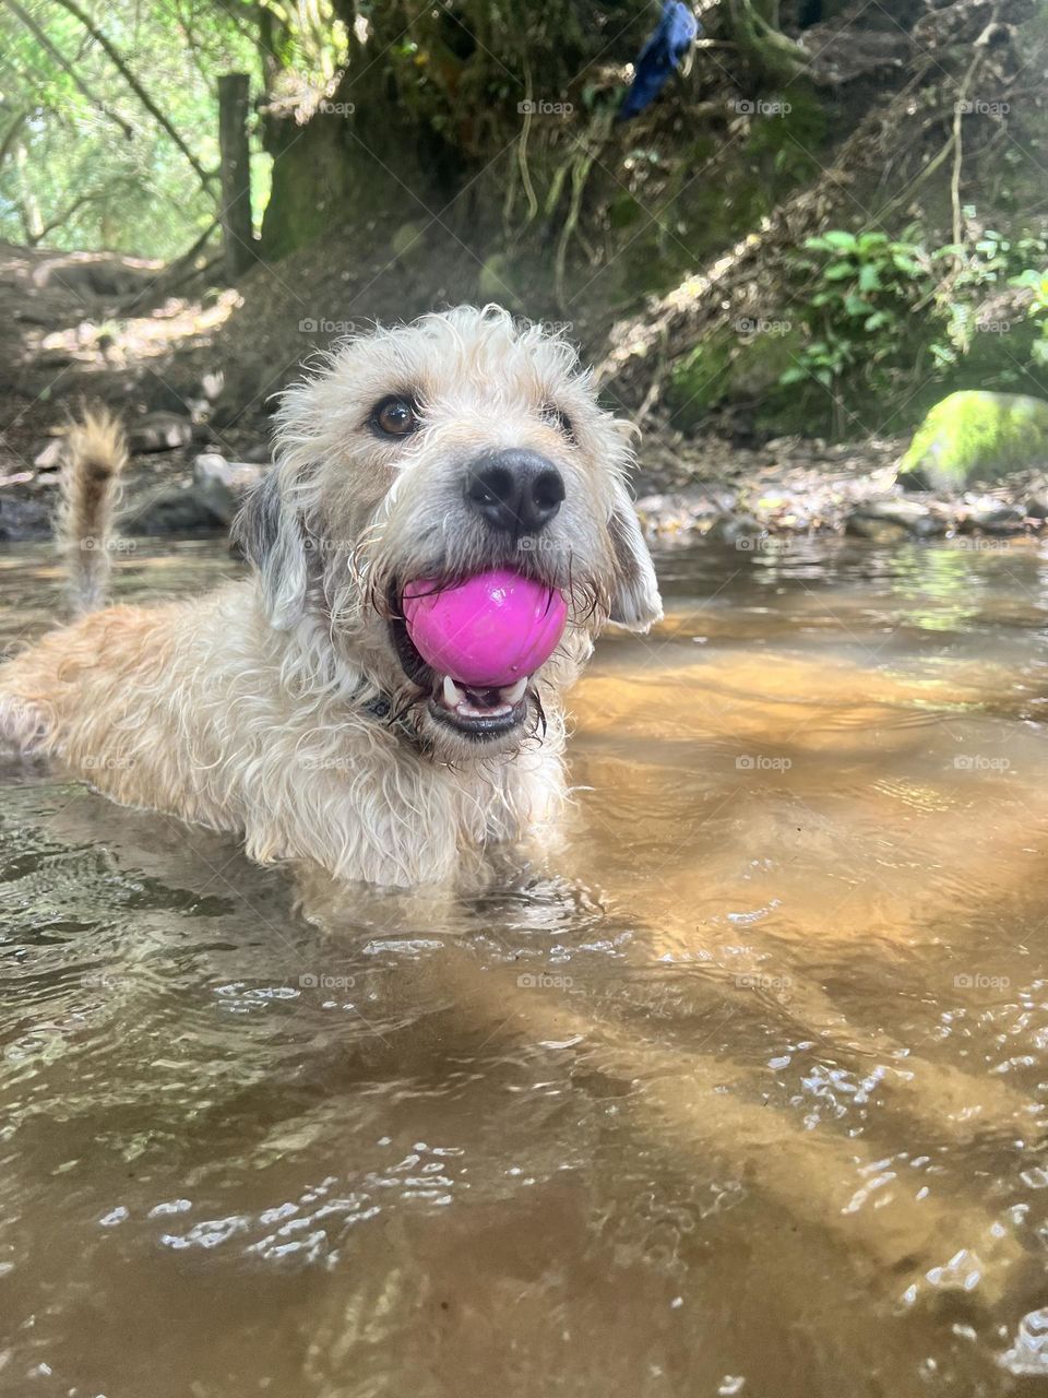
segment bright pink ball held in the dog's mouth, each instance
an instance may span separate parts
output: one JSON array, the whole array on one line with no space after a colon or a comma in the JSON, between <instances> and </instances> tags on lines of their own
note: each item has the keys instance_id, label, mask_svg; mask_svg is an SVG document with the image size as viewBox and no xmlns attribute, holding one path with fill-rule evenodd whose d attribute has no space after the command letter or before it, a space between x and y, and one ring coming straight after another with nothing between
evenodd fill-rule
<instances>
[{"instance_id":1,"label":"bright pink ball held in the dog's mouth","mask_svg":"<svg viewBox=\"0 0 1048 1398\"><path fill-rule=\"evenodd\" d=\"M490 689L534 674L565 633L560 593L509 568L439 587L408 583L404 621L426 664L465 685Z\"/></svg>"}]
</instances>

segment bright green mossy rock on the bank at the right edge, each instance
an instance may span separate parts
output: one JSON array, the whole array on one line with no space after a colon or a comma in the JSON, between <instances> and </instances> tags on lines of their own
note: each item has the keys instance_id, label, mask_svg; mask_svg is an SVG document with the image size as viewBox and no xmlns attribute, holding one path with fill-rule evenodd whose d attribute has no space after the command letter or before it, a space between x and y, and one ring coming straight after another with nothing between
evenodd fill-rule
<instances>
[{"instance_id":1,"label":"bright green mossy rock on the bank at the right edge","mask_svg":"<svg viewBox=\"0 0 1048 1398\"><path fill-rule=\"evenodd\" d=\"M1048 463L1048 403L1021 393L952 393L931 410L898 466L915 491L963 491Z\"/></svg>"}]
</instances>

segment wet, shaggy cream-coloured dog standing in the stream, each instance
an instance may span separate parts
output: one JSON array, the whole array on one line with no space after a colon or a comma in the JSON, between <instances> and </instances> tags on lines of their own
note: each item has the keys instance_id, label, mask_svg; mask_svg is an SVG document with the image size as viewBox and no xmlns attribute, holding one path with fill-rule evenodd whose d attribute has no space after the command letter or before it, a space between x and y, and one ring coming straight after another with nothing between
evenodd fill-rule
<instances>
[{"instance_id":1,"label":"wet, shaggy cream-coloured dog standing in the stream","mask_svg":"<svg viewBox=\"0 0 1048 1398\"><path fill-rule=\"evenodd\" d=\"M562 336L496 306L377 329L282 396L274 466L233 526L249 576L99 610L127 452L89 415L59 517L80 615L0 667L0 733L117 802L337 879L446 884L541 843L594 637L662 615L634 436ZM527 682L464 691L415 649L401 596L500 566L558 589L567 626Z\"/></svg>"}]
</instances>

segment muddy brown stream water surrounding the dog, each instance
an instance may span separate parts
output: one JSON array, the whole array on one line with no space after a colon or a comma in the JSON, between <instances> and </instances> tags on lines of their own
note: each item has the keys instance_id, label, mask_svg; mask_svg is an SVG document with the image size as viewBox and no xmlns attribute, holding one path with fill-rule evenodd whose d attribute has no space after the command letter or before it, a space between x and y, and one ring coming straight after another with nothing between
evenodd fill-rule
<instances>
[{"instance_id":1,"label":"muddy brown stream water surrounding the dog","mask_svg":"<svg viewBox=\"0 0 1048 1398\"><path fill-rule=\"evenodd\" d=\"M3 759L0 1392L1045 1391L1048 554L660 570L556 868L465 903ZM4 551L0 642L57 584Z\"/></svg>"}]
</instances>

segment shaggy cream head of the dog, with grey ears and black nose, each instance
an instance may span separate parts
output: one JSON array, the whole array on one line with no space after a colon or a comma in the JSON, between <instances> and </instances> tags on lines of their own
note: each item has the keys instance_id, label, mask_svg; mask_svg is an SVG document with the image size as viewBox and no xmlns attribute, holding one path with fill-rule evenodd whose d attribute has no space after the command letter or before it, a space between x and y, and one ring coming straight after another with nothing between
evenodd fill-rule
<instances>
[{"instance_id":1,"label":"shaggy cream head of the dog, with grey ears and black nose","mask_svg":"<svg viewBox=\"0 0 1048 1398\"><path fill-rule=\"evenodd\" d=\"M423 316L349 340L284 396L277 466L238 537L271 624L323 633L423 751L513 752L606 619L661 615L626 493L632 436L559 336L497 308ZM527 684L478 691L423 661L401 598L493 568L559 590L569 622Z\"/></svg>"}]
</instances>

